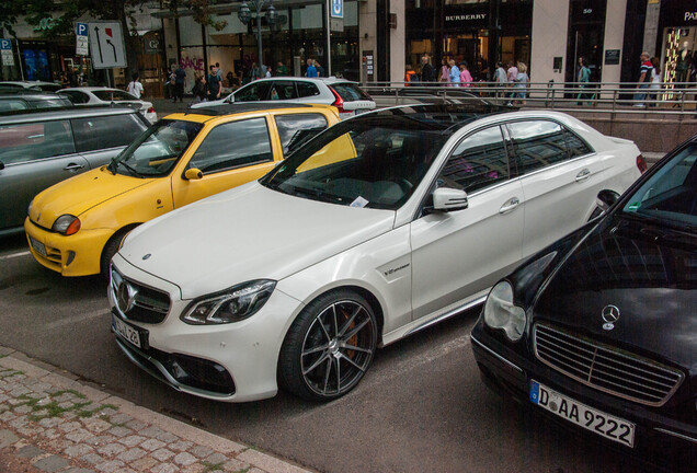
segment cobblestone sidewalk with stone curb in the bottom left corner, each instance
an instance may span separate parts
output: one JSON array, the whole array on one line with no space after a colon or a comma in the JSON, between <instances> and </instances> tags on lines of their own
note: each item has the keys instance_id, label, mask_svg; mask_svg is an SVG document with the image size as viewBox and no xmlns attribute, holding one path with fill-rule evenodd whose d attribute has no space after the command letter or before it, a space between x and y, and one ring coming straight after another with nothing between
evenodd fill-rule
<instances>
[{"instance_id":1,"label":"cobblestone sidewalk with stone curb in the bottom left corner","mask_svg":"<svg viewBox=\"0 0 697 473\"><path fill-rule=\"evenodd\" d=\"M0 347L0 472L309 473Z\"/></svg>"}]
</instances>

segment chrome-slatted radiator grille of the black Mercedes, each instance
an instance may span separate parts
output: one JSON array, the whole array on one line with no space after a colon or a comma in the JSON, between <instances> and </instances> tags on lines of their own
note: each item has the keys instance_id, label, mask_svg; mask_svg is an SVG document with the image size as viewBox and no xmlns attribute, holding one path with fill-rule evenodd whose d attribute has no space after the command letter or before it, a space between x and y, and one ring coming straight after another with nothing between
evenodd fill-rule
<instances>
[{"instance_id":1,"label":"chrome-slatted radiator grille of the black Mercedes","mask_svg":"<svg viewBox=\"0 0 697 473\"><path fill-rule=\"evenodd\" d=\"M573 366L569 365L569 364L564 364L563 361L559 361L556 360L555 362L546 359L546 357L541 356L538 351L538 341L537 341L537 335L538 335L538 331L537 328L542 327L544 331L548 331L548 332L552 332L556 334L559 334L560 336L565 336L569 338L572 338L573 342L576 342L576 345L571 344L570 342L567 341L562 341L560 338L557 338L557 341L560 344L565 344L567 348L560 346L560 345L556 345L549 341L546 341L546 346L544 348L546 349L557 349L556 351L556 356L557 358L567 358L569 359L571 362L575 362L575 364L580 364L580 359L583 358L583 353L586 354L585 358L585 364L582 366L582 369L580 368L574 368ZM549 333L546 333L545 336L548 336L550 338L553 338L552 335L550 335ZM581 347L578 345L586 345L585 347ZM568 356L564 356L560 350L565 350L567 353L570 353L570 350L568 349L569 347L574 348L574 354L576 355L576 358L569 358ZM597 391L627 400L627 401L631 401L631 402L636 402L639 404L643 404L643 405L648 405L648 406L652 406L652 407L661 407L663 406L670 399L671 396L673 396L673 394L675 394L675 392L677 391L677 389L683 384L683 381L685 380L685 374L675 369L675 368L670 368L663 364L659 364L650 358L645 358L645 357L640 357L637 356L635 354L631 354L629 351L625 351L625 353L620 353L619 349L617 349L616 347L612 346L612 345L606 345L606 344L602 344L599 342L596 342L594 339L591 338L581 338L572 333L569 332L564 332L561 330L557 330L557 328L552 328L549 325L546 324L536 324L533 327L533 348L535 351L535 357L540 360L542 364L547 365L548 367L552 368L553 370L584 384L587 385L592 389L595 389ZM612 354L615 358L607 358L607 354L598 354L598 350L602 349L604 351L606 351L607 354ZM639 387L642 389L645 389L644 391L638 391L637 389L631 389L631 388L626 388L625 392L618 392L615 391L613 389L608 389L608 388L604 388L602 385L595 384L593 382L593 373L594 370L595 371L599 371L601 373L602 368L598 369L596 368L596 365L598 364L598 358L606 358L609 359L612 362L618 364L618 365L625 365L625 366L630 366L633 368L637 368L636 366L632 366L631 362L636 361L636 362L641 362L648 366L653 366L656 369L663 370L665 371L664 373L659 373L659 372L651 372L652 376L656 377L656 378L663 378L665 381L671 382L672 384L672 389L666 390L666 391L659 391L655 388L651 388L651 387ZM621 359L626 360L625 362L621 361ZM576 372L581 373L583 377L579 376L578 373L573 373L571 370L575 370ZM649 371L643 371L644 373L649 373ZM673 374L676 379L671 379L667 378L666 374ZM618 382L629 382L632 384L637 384L633 381L629 381L628 377L625 378L619 378L616 377ZM620 385L617 384L617 382L613 383L610 382L607 378L603 378L604 382L606 382L607 384L615 384L615 385ZM666 388L669 388L669 385L666 385ZM655 395L655 394L650 394L647 390L651 390L651 391L656 391L661 393L661 396ZM640 395L642 395L642 397L637 397L637 396L632 396L627 394L628 391L633 391L636 393L639 393ZM659 401L650 401L647 397L648 396L653 396L659 399Z\"/></svg>"}]
</instances>

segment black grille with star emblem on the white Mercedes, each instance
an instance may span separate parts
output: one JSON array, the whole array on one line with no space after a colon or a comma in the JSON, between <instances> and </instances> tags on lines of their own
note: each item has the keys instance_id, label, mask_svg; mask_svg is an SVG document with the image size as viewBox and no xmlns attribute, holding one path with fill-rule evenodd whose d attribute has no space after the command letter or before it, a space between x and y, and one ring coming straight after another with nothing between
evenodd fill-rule
<instances>
[{"instance_id":1,"label":"black grille with star emblem on the white Mercedes","mask_svg":"<svg viewBox=\"0 0 697 473\"><path fill-rule=\"evenodd\" d=\"M111 270L112 291L118 311L128 320L145 323L160 323L170 311L170 296L123 277L114 267ZM133 303L119 297L119 286L132 288Z\"/></svg>"}]
</instances>

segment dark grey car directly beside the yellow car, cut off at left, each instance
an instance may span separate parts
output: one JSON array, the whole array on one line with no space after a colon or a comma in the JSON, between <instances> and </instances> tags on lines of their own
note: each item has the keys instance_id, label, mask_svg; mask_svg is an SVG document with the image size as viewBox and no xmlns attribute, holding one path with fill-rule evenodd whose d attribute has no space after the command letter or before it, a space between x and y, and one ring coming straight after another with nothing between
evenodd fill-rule
<instances>
[{"instance_id":1,"label":"dark grey car directly beside the yellow car, cut off at left","mask_svg":"<svg viewBox=\"0 0 697 473\"><path fill-rule=\"evenodd\" d=\"M147 127L126 106L0 114L0 234L22 231L36 194L106 164Z\"/></svg>"}]
</instances>

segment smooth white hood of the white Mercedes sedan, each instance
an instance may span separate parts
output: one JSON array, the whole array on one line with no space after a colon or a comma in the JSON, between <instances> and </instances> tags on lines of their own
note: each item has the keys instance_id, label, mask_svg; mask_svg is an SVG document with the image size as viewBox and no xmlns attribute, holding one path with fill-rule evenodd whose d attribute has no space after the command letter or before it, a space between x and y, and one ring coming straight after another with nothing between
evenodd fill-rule
<instances>
[{"instance_id":1,"label":"smooth white hood of the white Mercedes sedan","mask_svg":"<svg viewBox=\"0 0 697 473\"><path fill-rule=\"evenodd\" d=\"M119 254L191 299L252 279L281 280L393 223L391 210L293 197L252 182L138 227Z\"/></svg>"}]
</instances>

